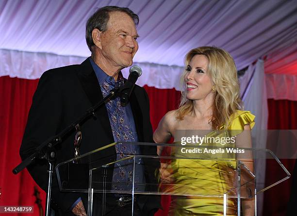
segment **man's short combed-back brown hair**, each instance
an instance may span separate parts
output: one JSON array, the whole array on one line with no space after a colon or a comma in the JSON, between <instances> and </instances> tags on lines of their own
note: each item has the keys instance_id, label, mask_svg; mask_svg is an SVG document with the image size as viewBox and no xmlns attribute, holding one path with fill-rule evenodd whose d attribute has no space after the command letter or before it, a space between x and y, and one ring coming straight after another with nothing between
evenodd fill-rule
<instances>
[{"instance_id":1,"label":"man's short combed-back brown hair","mask_svg":"<svg viewBox=\"0 0 297 216\"><path fill-rule=\"evenodd\" d=\"M100 32L105 32L107 30L107 23L109 20L110 12L124 12L129 15L135 25L139 23L139 17L134 14L132 10L127 7L117 7L117 6L105 6L99 8L86 22L85 25L85 40L88 45L89 50L92 52L92 47L95 45L92 38L92 31L94 29L99 29Z\"/></svg>"}]
</instances>

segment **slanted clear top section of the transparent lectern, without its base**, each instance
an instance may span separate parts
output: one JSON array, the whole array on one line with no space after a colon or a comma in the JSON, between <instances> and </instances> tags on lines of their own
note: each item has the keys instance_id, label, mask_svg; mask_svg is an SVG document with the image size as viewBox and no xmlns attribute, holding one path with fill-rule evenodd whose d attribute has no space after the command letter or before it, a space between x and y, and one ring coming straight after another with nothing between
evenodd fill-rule
<instances>
[{"instance_id":1,"label":"slanted clear top section of the transparent lectern, without its base","mask_svg":"<svg viewBox=\"0 0 297 216\"><path fill-rule=\"evenodd\" d=\"M162 156L117 152L109 148L137 145L162 148ZM125 149L125 148L122 148ZM256 188L255 161L275 160L283 176L275 183ZM62 191L179 196L251 198L256 191L281 183L290 174L270 150L190 144L112 143L56 166Z\"/></svg>"}]
</instances>

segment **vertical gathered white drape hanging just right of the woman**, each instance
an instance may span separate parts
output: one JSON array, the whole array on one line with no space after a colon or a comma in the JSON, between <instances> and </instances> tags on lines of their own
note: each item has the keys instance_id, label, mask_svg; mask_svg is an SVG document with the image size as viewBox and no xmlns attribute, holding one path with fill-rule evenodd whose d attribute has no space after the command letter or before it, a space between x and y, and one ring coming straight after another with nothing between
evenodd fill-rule
<instances>
[{"instance_id":1,"label":"vertical gathered white drape hanging just right of the woman","mask_svg":"<svg viewBox=\"0 0 297 216\"><path fill-rule=\"evenodd\" d=\"M259 59L256 64L248 66L246 73L239 78L239 81L244 109L249 110L256 116L256 124L252 130L253 148L265 149L268 106L263 60ZM254 168L257 176L257 189L263 189L265 187L265 165L265 160L255 160ZM263 203L263 199L263 194L257 195L258 215L262 215L263 206L261 203Z\"/></svg>"}]
</instances>

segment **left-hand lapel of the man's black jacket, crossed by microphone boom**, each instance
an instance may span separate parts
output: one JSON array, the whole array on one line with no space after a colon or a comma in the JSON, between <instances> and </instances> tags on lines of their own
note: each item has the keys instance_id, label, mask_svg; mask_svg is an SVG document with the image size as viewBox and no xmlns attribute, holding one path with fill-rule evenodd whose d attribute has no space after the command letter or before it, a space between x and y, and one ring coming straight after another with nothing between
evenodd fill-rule
<instances>
[{"instance_id":1,"label":"left-hand lapel of the man's black jacket, crossed by microphone boom","mask_svg":"<svg viewBox=\"0 0 297 216\"><path fill-rule=\"evenodd\" d=\"M100 100L103 99L103 96L97 76L89 59L82 62L81 69L77 71L77 75L82 84L82 89L94 107ZM105 104L98 109L96 115L99 118L98 120L101 123L105 134L107 134L111 140L114 140Z\"/></svg>"}]
</instances>

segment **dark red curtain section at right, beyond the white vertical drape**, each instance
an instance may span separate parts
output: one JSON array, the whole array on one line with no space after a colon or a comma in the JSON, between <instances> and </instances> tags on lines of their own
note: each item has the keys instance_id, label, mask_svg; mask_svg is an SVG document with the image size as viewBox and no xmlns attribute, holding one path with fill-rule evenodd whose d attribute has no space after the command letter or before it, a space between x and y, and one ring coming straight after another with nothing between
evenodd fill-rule
<instances>
[{"instance_id":1,"label":"dark red curtain section at right, beyond the white vertical drape","mask_svg":"<svg viewBox=\"0 0 297 216\"><path fill-rule=\"evenodd\" d=\"M268 99L268 130L297 129L297 101ZM281 163L293 174L295 159L281 159ZM274 161L267 160L265 183L275 180L275 175L282 175L274 166ZM283 175L282 175L283 176ZM292 188L292 177L264 192L264 216L285 216Z\"/></svg>"}]
</instances>

